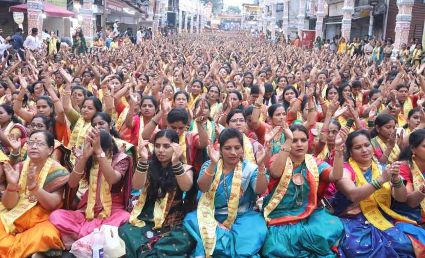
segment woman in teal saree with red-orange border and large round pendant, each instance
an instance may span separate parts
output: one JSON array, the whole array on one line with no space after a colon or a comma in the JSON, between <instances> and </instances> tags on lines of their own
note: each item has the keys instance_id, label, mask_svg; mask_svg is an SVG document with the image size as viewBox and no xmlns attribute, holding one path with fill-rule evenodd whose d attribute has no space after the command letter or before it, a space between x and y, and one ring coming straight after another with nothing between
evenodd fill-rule
<instances>
[{"instance_id":1,"label":"woman in teal saree with red-orange border and large round pendant","mask_svg":"<svg viewBox=\"0 0 425 258\"><path fill-rule=\"evenodd\" d=\"M308 131L301 124L283 132L285 144L272 157L270 194L264 198L263 213L268 235L264 257L336 257L337 241L343 234L339 218L317 207L329 182L343 176L342 145L349 128L344 127L335 139L333 167L306 154ZM335 249L335 250L332 250Z\"/></svg>"}]
</instances>

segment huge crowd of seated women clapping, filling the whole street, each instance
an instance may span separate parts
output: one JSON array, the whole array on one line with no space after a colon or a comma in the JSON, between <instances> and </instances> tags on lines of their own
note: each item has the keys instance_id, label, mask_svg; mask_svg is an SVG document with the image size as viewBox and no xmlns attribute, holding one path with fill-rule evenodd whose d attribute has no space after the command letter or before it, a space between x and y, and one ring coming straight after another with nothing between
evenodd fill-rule
<instances>
[{"instance_id":1,"label":"huge crowd of seated women clapping, filling the whole street","mask_svg":"<svg viewBox=\"0 0 425 258\"><path fill-rule=\"evenodd\" d=\"M233 33L46 53L2 64L0 257L102 225L128 257L425 257L421 60Z\"/></svg>"}]
</instances>

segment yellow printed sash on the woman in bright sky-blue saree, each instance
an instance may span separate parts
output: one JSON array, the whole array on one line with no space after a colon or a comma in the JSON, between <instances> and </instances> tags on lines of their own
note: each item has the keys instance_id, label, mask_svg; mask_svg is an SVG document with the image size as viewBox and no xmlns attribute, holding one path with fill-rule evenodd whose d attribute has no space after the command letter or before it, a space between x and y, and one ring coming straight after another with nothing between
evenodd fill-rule
<instances>
[{"instance_id":1,"label":"yellow printed sash on the woman in bright sky-blue saree","mask_svg":"<svg viewBox=\"0 0 425 258\"><path fill-rule=\"evenodd\" d=\"M198 202L198 224L201 232L202 243L204 245L205 256L211 257L216 247L216 229L218 222L214 217L215 206L214 200L216 198L216 191L223 173L223 160L220 159L217 164L217 172L214 177L213 183L209 190L203 192ZM225 180L225 178L223 179ZM231 229L233 222L236 220L239 207L240 189L242 182L242 162L239 161L233 172L233 179L231 182L230 195L227 203L227 219L223 222L223 226ZM227 189L224 189L227 191Z\"/></svg>"}]
</instances>

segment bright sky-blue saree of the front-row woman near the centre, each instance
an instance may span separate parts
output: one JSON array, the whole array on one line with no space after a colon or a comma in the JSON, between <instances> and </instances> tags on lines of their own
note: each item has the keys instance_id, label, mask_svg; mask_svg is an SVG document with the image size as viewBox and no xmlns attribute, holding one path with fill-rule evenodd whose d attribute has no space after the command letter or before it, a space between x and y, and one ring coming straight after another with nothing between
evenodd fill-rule
<instances>
[{"instance_id":1,"label":"bright sky-blue saree of the front-row woman near the centre","mask_svg":"<svg viewBox=\"0 0 425 258\"><path fill-rule=\"evenodd\" d=\"M198 178L202 177L210 162L206 161L202 165ZM217 242L213 257L260 257L258 252L266 238L267 226L262 214L253 210L257 199L255 193L257 169L256 164L248 161L242 162L241 188L243 189L243 193L239 200L238 215L231 226L231 230L220 226L217 227ZM217 173L217 167L215 173ZM230 195L233 171L225 177L227 189L224 189L223 177L224 174L222 174L220 179L214 200L215 219L220 223L223 223L227 219L227 199L224 191L226 190L227 195ZM183 226L197 241L192 256L205 257L196 210L186 215Z\"/></svg>"}]
</instances>

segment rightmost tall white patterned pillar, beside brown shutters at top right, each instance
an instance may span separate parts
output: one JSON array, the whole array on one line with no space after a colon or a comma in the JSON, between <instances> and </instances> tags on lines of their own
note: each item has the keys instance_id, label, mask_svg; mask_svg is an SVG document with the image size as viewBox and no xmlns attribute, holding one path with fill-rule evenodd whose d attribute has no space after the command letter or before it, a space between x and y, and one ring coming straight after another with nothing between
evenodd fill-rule
<instances>
[{"instance_id":1,"label":"rightmost tall white patterned pillar, beside brown shutters at top right","mask_svg":"<svg viewBox=\"0 0 425 258\"><path fill-rule=\"evenodd\" d=\"M398 14L395 18L395 38L392 57L398 54L401 44L408 43L414 0L397 0Z\"/></svg>"}]
</instances>

